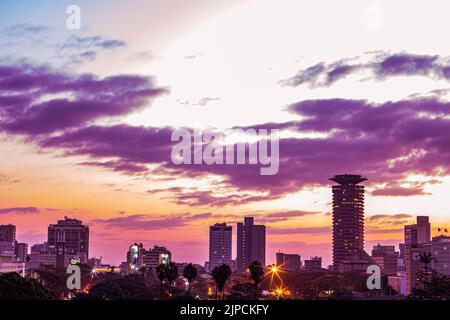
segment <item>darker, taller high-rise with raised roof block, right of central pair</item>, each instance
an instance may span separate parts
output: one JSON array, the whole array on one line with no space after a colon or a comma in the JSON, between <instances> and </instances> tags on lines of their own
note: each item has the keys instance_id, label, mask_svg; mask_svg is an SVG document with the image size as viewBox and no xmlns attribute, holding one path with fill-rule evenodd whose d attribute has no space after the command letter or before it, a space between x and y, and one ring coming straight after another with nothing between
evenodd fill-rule
<instances>
[{"instance_id":1,"label":"darker, taller high-rise with raised roof block, right of central pair","mask_svg":"<svg viewBox=\"0 0 450 320\"><path fill-rule=\"evenodd\" d=\"M266 265L266 226L245 217L244 223L237 224L237 271L246 270L253 261Z\"/></svg>"}]
</instances>

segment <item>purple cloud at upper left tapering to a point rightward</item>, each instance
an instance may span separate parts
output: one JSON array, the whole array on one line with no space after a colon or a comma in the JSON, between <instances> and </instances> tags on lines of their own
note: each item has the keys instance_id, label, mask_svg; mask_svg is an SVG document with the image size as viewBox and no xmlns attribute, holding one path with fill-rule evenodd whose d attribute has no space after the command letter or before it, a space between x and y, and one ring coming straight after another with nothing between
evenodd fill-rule
<instances>
[{"instance_id":1,"label":"purple cloud at upper left tapering to a point rightward","mask_svg":"<svg viewBox=\"0 0 450 320\"><path fill-rule=\"evenodd\" d=\"M31 65L0 66L0 128L42 134L80 127L137 111L164 92L141 76L99 79ZM45 99L49 94L67 97Z\"/></svg>"}]
</instances>

